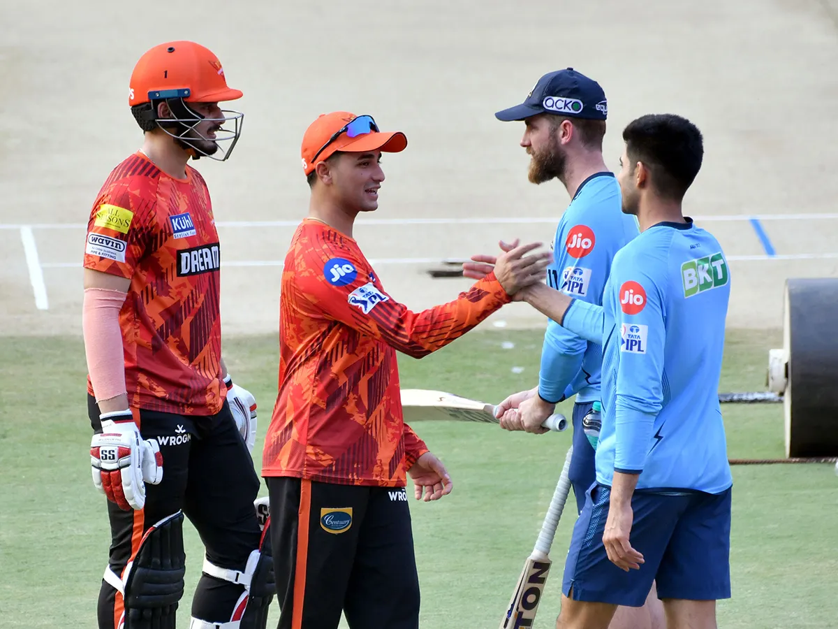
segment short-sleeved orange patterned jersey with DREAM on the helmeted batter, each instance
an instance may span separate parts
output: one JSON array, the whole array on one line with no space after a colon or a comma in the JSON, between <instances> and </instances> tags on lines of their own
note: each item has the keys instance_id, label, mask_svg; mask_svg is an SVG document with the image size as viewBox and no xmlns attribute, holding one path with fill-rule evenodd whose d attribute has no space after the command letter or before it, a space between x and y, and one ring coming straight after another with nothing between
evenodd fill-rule
<instances>
[{"instance_id":1,"label":"short-sleeved orange patterned jersey with DREAM on the helmeted batter","mask_svg":"<svg viewBox=\"0 0 838 629\"><path fill-rule=\"evenodd\" d=\"M142 153L119 164L93 204L84 266L131 278L119 322L132 407L208 415L226 395L220 248L204 178L186 173L173 179Z\"/></svg>"}]
</instances>

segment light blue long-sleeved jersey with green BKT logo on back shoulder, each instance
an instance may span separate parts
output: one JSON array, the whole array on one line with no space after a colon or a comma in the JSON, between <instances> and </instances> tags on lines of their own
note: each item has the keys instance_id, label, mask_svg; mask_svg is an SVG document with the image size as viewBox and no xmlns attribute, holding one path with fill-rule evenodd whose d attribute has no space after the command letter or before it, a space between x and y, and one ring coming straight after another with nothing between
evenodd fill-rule
<instances>
[{"instance_id":1,"label":"light blue long-sleeved jersey with green BKT logo on back shoulder","mask_svg":"<svg viewBox=\"0 0 838 629\"><path fill-rule=\"evenodd\" d=\"M574 300L563 325L603 340L597 481L638 489L732 486L718 386L731 278L716 238L659 223L614 257L603 307Z\"/></svg>"}]
</instances>

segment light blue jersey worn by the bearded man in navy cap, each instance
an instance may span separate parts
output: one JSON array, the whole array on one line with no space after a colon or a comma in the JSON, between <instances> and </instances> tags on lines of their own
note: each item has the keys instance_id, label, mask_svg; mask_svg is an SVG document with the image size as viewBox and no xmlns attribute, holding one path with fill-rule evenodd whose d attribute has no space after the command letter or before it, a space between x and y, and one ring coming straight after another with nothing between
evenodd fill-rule
<instances>
[{"instance_id":1,"label":"light blue jersey worn by the bearded man in navy cap","mask_svg":"<svg viewBox=\"0 0 838 629\"><path fill-rule=\"evenodd\" d=\"M623 214L613 173L592 174L579 186L556 227L547 283L571 297L602 305L614 255L638 234L637 219ZM577 402L598 402L600 342L589 342L548 320L541 347L541 397L559 402L577 393Z\"/></svg>"}]
</instances>

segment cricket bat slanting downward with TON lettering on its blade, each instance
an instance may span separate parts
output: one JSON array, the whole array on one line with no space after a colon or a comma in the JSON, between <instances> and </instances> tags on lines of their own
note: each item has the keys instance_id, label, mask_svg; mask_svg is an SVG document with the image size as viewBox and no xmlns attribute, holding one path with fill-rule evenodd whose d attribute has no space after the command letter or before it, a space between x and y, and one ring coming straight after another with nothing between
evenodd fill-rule
<instances>
[{"instance_id":1,"label":"cricket bat slanting downward with TON lettering on its blade","mask_svg":"<svg viewBox=\"0 0 838 629\"><path fill-rule=\"evenodd\" d=\"M564 511L567 496L570 493L571 481L567 477L571 467L573 446L567 450L565 465L561 468L561 476L556 484L556 491L547 509L547 515L541 524L541 533L535 540L535 548L524 562L524 569L521 570L518 584L515 585L510 605L500 621L499 629L520 629L530 627L535 620L535 612L538 611L538 604L541 602L541 595L544 593L544 586L547 582L547 575L550 574L550 547L553 538L556 537L556 527Z\"/></svg>"}]
</instances>

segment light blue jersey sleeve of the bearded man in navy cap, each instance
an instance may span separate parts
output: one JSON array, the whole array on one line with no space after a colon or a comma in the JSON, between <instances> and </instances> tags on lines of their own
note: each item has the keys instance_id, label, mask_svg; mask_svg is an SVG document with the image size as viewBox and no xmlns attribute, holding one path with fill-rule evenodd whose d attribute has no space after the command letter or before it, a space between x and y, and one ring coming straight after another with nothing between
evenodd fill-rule
<instances>
[{"instance_id":1,"label":"light blue jersey sleeve of the bearded man in navy cap","mask_svg":"<svg viewBox=\"0 0 838 629\"><path fill-rule=\"evenodd\" d=\"M577 223L572 216L584 216L584 200L579 207L567 211L556 229L553 242L553 263L547 268L547 283L552 289L587 304L603 303L603 287L608 278L608 247L597 247L599 236L605 234L598 226ZM571 216L566 220L566 217ZM541 371L538 392L550 402L565 399L566 388L582 368L590 337L575 334L572 330L550 320L541 347ZM602 335L595 342L602 342Z\"/></svg>"}]
</instances>

